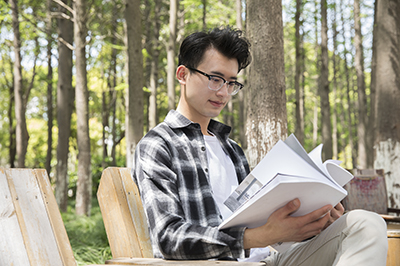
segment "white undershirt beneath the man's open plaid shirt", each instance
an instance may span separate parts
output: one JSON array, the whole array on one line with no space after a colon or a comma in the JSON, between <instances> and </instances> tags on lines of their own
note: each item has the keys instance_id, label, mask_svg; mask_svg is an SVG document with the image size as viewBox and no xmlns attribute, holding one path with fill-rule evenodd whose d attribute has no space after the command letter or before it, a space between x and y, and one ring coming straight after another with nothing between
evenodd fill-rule
<instances>
[{"instance_id":1,"label":"white undershirt beneath the man's open plaid shirt","mask_svg":"<svg viewBox=\"0 0 400 266\"><path fill-rule=\"evenodd\" d=\"M228 218L232 211L225 206L224 201L238 186L235 166L232 159L224 152L215 136L204 135L206 143L208 172L214 200L221 212L222 219ZM240 261L258 262L270 255L268 247L252 248L250 257Z\"/></svg>"}]
</instances>

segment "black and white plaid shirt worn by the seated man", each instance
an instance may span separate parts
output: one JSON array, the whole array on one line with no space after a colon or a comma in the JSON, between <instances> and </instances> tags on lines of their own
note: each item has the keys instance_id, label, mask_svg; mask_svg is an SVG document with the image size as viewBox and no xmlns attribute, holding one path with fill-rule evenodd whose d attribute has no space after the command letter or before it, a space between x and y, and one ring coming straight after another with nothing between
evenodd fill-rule
<instances>
[{"instance_id":1,"label":"black and white plaid shirt worn by the seated man","mask_svg":"<svg viewBox=\"0 0 400 266\"><path fill-rule=\"evenodd\" d=\"M242 149L228 138L230 127L211 120L208 129L231 157L240 183L249 166ZM155 257L244 257L245 228L217 228L222 216L213 198L199 124L170 111L139 142L132 176L141 192Z\"/></svg>"}]
</instances>

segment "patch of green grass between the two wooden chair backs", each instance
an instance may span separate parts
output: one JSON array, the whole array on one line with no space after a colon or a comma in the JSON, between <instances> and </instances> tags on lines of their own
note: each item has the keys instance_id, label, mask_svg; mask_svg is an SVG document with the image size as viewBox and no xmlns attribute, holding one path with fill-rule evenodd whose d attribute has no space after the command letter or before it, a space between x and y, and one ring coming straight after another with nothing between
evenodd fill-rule
<instances>
[{"instance_id":1,"label":"patch of green grass between the two wooden chair backs","mask_svg":"<svg viewBox=\"0 0 400 266\"><path fill-rule=\"evenodd\" d=\"M77 264L104 264L112 256L97 201L92 202L90 217L76 215L72 203L62 218Z\"/></svg>"}]
</instances>

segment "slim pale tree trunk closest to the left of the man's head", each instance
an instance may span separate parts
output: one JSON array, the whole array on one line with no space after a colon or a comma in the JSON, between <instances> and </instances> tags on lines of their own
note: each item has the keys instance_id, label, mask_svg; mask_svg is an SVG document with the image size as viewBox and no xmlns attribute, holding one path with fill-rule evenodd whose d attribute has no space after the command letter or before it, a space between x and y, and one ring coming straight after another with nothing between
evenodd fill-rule
<instances>
[{"instance_id":1,"label":"slim pale tree trunk closest to the left of the man's head","mask_svg":"<svg viewBox=\"0 0 400 266\"><path fill-rule=\"evenodd\" d=\"M169 39L167 46L167 86L168 108L175 109L175 46L177 32L178 0L170 0L169 6Z\"/></svg>"}]
</instances>

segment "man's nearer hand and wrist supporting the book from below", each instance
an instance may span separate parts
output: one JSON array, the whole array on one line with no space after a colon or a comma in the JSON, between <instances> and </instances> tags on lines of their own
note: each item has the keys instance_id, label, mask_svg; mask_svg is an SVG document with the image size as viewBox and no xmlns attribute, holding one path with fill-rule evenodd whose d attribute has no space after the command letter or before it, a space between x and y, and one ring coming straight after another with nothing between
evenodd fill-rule
<instances>
[{"instance_id":1,"label":"man's nearer hand and wrist supporting the book from below","mask_svg":"<svg viewBox=\"0 0 400 266\"><path fill-rule=\"evenodd\" d=\"M326 205L304 216L290 216L299 207L300 201L295 199L276 210L264 225L246 229L244 248L266 247L278 242L299 242L319 234L332 219L336 220L341 216L340 208L332 209L332 205Z\"/></svg>"}]
</instances>

